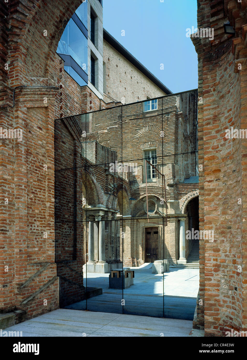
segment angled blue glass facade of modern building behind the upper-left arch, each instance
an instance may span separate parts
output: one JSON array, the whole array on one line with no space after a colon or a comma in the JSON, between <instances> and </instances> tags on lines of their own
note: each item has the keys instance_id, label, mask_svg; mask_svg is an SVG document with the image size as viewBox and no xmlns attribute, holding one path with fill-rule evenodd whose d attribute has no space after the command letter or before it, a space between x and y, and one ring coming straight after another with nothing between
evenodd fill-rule
<instances>
[{"instance_id":1,"label":"angled blue glass facade of modern building behind the upper-left arch","mask_svg":"<svg viewBox=\"0 0 247 360\"><path fill-rule=\"evenodd\" d=\"M86 85L88 82L86 29L87 1L78 7L73 17L69 20L57 48L57 53L65 61L64 70L68 72L80 86ZM71 58L74 61L72 61Z\"/></svg>"}]
</instances>

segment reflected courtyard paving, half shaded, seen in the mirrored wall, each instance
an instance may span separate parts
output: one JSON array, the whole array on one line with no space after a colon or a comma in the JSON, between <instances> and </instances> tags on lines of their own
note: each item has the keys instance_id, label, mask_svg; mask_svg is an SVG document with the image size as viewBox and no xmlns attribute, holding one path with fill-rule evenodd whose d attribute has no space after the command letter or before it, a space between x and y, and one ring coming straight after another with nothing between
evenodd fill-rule
<instances>
[{"instance_id":1,"label":"reflected courtyard paving, half shaded, seen in the mirrored wall","mask_svg":"<svg viewBox=\"0 0 247 360\"><path fill-rule=\"evenodd\" d=\"M66 309L116 312L193 320L199 288L199 269L176 269L152 274L152 264L131 267L134 285L123 290L109 289L109 274L87 274L87 286L102 288L103 294L87 301L66 306ZM164 287L164 303L163 303ZM125 301L124 309L121 305ZM163 312L164 308L164 312Z\"/></svg>"}]
</instances>

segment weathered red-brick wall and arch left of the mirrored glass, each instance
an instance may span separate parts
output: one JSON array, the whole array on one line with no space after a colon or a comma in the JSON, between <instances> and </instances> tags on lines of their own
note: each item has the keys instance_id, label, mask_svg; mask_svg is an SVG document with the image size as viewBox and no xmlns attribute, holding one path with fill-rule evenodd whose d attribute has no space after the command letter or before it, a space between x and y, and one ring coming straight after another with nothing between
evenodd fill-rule
<instances>
[{"instance_id":1,"label":"weathered red-brick wall and arch left of the mirrored glass","mask_svg":"<svg viewBox=\"0 0 247 360\"><path fill-rule=\"evenodd\" d=\"M61 79L55 51L68 19L80 3L0 4L1 14L6 16L0 34L2 62L8 63L4 73L5 65L1 67L0 100L4 107L0 108L0 125L23 131L22 141L1 139L1 179L7 200L1 217L5 230L0 240L0 309L23 309L27 314L22 319L59 305L54 263L54 118L61 113ZM44 36L44 30L48 36ZM14 87L22 85L15 89L14 107L6 107L13 106ZM45 264L49 267L37 273Z\"/></svg>"}]
</instances>

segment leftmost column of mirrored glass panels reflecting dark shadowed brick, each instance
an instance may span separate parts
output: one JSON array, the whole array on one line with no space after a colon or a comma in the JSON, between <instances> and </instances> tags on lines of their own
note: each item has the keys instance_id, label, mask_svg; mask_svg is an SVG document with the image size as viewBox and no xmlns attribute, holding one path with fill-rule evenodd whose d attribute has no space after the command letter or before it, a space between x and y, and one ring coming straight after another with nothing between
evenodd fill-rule
<instances>
[{"instance_id":1,"label":"leftmost column of mirrored glass panels reflecting dark shadowed brick","mask_svg":"<svg viewBox=\"0 0 247 360\"><path fill-rule=\"evenodd\" d=\"M85 274L83 273L83 226L80 146L69 131L76 129L72 118L55 120L55 262L59 276L60 307L85 310ZM80 133L80 130L79 130ZM64 139L66 141L61 141Z\"/></svg>"}]
</instances>

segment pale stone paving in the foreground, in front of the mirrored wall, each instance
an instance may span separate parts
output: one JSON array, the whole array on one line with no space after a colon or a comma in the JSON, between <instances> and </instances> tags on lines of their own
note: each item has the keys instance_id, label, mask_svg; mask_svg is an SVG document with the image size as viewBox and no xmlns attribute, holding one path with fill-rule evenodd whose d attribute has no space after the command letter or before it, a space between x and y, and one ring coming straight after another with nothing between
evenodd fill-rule
<instances>
[{"instance_id":1,"label":"pale stone paving in the foreground, in front of the mirrored wall","mask_svg":"<svg viewBox=\"0 0 247 360\"><path fill-rule=\"evenodd\" d=\"M23 337L188 337L192 321L58 309L5 330Z\"/></svg>"}]
</instances>

